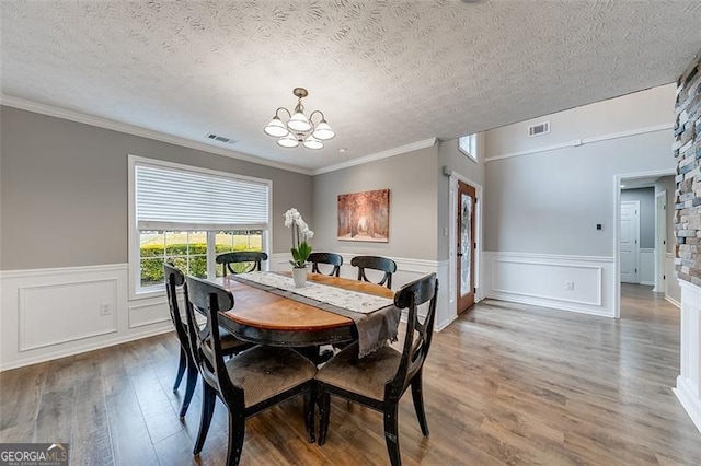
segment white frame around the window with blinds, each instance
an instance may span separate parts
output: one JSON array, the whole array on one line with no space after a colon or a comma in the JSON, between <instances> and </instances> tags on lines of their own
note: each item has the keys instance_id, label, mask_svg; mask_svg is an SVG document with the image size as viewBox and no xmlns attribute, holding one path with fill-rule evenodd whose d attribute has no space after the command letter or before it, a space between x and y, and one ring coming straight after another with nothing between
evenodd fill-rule
<instances>
[{"instance_id":1,"label":"white frame around the window with blinds","mask_svg":"<svg viewBox=\"0 0 701 466\"><path fill-rule=\"evenodd\" d=\"M140 259L141 259L140 248L139 248L140 230L139 230L137 218L136 218L136 166L137 164L147 164L147 165L152 165L152 166L158 166L163 168L174 168L174 170L180 170L185 172L193 172L193 173L200 173L205 175L214 175L214 176L219 176L225 178L232 178L237 180L250 180L253 183L267 185L267 190L268 190L267 224L264 229L256 228L255 230L263 230L263 244L262 244L263 251L268 252L269 254L271 245L273 244L273 182L271 179L256 178L253 176L239 175L239 174L221 172L217 170L204 168L204 167L194 166L194 165L185 165L181 163L163 161L159 159L143 158L143 156L134 155L134 154L128 154L127 161L128 161L128 228L129 228L128 264L127 264L128 278L127 279L129 282L128 283L129 301L165 295L164 286L149 287L146 289L142 289L140 287L140 275L139 275L139 267L140 267ZM200 231L202 230L203 229L200 229ZM219 228L219 225L212 225L212 231L214 230L222 230L222 229ZM232 226L230 230L253 230L253 229L249 229L245 225L240 225L235 228ZM208 230L204 229L204 231L208 231ZM210 236L214 237L215 234L211 234L208 231L207 233L207 275L209 277L209 275L212 273L211 277L215 277L216 264L214 260L214 257L215 257L214 252L216 249L214 247L210 248L210 246L214 246L214 244L210 244L210 243L214 243L214 240L210 240ZM212 253L210 253L210 251Z\"/></svg>"}]
</instances>

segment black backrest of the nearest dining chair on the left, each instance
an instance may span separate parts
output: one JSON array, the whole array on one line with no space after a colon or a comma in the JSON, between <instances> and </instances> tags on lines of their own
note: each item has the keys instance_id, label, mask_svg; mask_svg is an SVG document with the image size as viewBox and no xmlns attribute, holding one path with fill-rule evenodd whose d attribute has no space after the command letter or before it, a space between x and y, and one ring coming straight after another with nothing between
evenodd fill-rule
<instances>
[{"instance_id":1,"label":"black backrest of the nearest dining chair on the left","mask_svg":"<svg viewBox=\"0 0 701 466\"><path fill-rule=\"evenodd\" d=\"M194 324L195 330L189 331L193 352L196 353L194 359L199 366L199 373L219 393L239 392L242 394L243 391L235 387L229 378L219 335L219 312L233 308L233 294L217 284L195 277L186 278L185 290L188 301L188 322L192 321L194 324L195 312L207 317L202 330Z\"/></svg>"}]
</instances>

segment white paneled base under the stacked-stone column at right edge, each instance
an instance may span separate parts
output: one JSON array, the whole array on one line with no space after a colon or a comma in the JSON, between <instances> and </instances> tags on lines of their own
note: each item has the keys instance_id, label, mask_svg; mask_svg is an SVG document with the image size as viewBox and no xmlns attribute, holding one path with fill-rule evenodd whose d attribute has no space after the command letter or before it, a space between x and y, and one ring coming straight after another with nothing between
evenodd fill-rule
<instances>
[{"instance_id":1,"label":"white paneled base under the stacked-stone column at right edge","mask_svg":"<svg viewBox=\"0 0 701 466\"><path fill-rule=\"evenodd\" d=\"M681 334L679 376L674 388L681 406L701 431L701 288L679 280Z\"/></svg>"}]
</instances>

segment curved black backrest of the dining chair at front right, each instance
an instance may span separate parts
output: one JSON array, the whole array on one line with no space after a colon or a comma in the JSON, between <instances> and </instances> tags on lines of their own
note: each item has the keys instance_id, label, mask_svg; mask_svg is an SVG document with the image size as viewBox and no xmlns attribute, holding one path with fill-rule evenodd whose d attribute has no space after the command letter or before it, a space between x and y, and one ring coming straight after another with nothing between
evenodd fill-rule
<instances>
[{"instance_id":1,"label":"curved black backrest of the dining chair at front right","mask_svg":"<svg viewBox=\"0 0 701 466\"><path fill-rule=\"evenodd\" d=\"M437 298L438 279L436 273L407 283L394 294L394 305L399 308L406 308L409 315L401 362L394 378L386 386L387 395L391 398L399 399L402 396L426 360L436 318ZM418 321L418 306L426 302L428 302L428 311L422 324Z\"/></svg>"}]
</instances>

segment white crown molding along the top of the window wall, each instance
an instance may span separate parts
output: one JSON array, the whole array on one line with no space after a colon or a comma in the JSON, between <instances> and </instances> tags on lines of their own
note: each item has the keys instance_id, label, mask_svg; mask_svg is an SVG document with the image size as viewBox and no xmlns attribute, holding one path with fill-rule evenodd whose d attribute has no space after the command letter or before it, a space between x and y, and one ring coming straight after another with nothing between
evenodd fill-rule
<instances>
[{"instance_id":1,"label":"white crown molding along the top of the window wall","mask_svg":"<svg viewBox=\"0 0 701 466\"><path fill-rule=\"evenodd\" d=\"M180 145L188 149L195 149L198 151L208 152L217 155L223 155L230 159L237 159L244 162L255 163L258 165L271 166L273 168L301 173L304 175L313 175L313 172L308 168L287 165L284 163L277 163L277 162L273 162L266 159L261 159L254 155L244 154L238 151L212 147L204 142L193 141L191 139L166 135L164 132L154 131L151 129L140 128L138 126L128 125L125 123L119 123L112 119L97 117L94 115L88 115L79 112L68 110L65 108L55 107L53 105L41 104L38 102L32 102L32 101L27 101L20 97L13 97L10 95L0 94L0 105L5 105L8 107L19 108L21 110L33 112L36 114L47 115L56 118L67 119L70 121L81 123L84 125L95 126L99 128L110 129L112 131L138 136L141 138L153 139L156 141L166 142L169 144Z\"/></svg>"}]
</instances>

